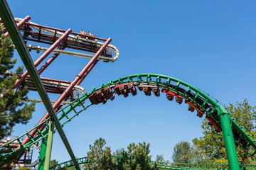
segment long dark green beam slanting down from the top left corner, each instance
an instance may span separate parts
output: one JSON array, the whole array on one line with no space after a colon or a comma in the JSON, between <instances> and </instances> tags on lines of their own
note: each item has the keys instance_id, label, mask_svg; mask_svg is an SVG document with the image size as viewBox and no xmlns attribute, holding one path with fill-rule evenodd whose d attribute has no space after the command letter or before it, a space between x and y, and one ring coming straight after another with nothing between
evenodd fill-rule
<instances>
[{"instance_id":1,"label":"long dark green beam slanting down from the top left corner","mask_svg":"<svg viewBox=\"0 0 256 170\"><path fill-rule=\"evenodd\" d=\"M38 90L38 94L40 95L43 101L43 104L46 107L46 110L48 111L48 113L56 123L56 129L58 130L58 133L60 134L60 138L61 140L63 140L63 143L66 149L68 150L68 154L70 154L70 157L73 160L75 167L77 169L80 169L78 166L78 162L75 159L75 154L73 153L73 150L70 147L70 144L68 142L68 138L65 136L65 132L63 131L63 128L60 125L60 122L53 109L53 106L50 103L50 99L46 93L46 89L44 89L43 87L39 74L36 71L35 64L33 64L33 60L31 59L31 56L28 50L26 49L26 45L23 42L21 33L18 30L18 27L14 21L14 17L12 16L11 10L6 0L0 0L0 16L4 22L4 26L6 26L6 30L9 32L11 40L13 40L14 42L14 45L18 51L18 54L21 56L21 60L23 61L23 64L28 70L28 74L30 74L31 79L33 80L33 83L35 84L36 89Z\"/></svg>"}]
</instances>

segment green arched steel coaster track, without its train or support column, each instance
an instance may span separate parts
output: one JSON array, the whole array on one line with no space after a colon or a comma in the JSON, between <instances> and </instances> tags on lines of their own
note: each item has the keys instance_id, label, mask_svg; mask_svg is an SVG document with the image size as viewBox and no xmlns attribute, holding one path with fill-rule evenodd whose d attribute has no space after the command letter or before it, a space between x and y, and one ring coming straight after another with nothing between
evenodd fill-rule
<instances>
[{"instance_id":1,"label":"green arched steel coaster track, without its train or support column","mask_svg":"<svg viewBox=\"0 0 256 170\"><path fill-rule=\"evenodd\" d=\"M217 111L217 108L220 106L220 103L218 101L216 101L214 98L212 98L209 94L206 94L203 91L201 91L200 89L198 89L194 86L191 86L190 84L187 84L185 81L181 81L181 80L175 79L173 77L168 77L168 76L164 76L164 75L160 75L160 74L134 74L134 75L130 75L127 77L120 77L113 81L110 80L110 82L108 82L107 84L102 84L97 89L93 88L93 91L91 91L90 93L85 94L81 98L78 98L75 101L73 101L72 103L70 103L65 108L62 108L60 111L58 111L58 115L59 115L58 119L63 122L62 126L65 125L66 123L69 123L71 120L73 120L73 118L75 118L75 116L77 116L82 111L85 111L87 109L87 107L92 105L92 104L89 104L89 105L85 106L83 104L83 102L85 102L87 100L87 98L90 96L90 94L93 94L93 93L95 93L95 91L103 89L107 86L116 86L118 84L124 84L124 83L130 83L130 82L156 84L159 87L171 89L172 91L176 91L176 93L181 94L181 96L183 96L183 98L188 98L189 101L193 101L193 103L196 103L198 108L201 108L206 112L206 116L212 118L217 125L220 125L220 120L218 119L218 116L216 116L214 114L215 111ZM181 89L183 89L183 91L181 91ZM191 96L191 94L192 94L192 96ZM197 103L196 98L198 98L198 97L203 99L204 102ZM208 105L210 105L210 106L213 106L213 109L206 110L203 107L206 105L206 103L208 103ZM82 109L80 111L76 111L76 110L78 110L77 108L79 108L79 106L82 106ZM73 113L73 115L70 117L69 114L72 114L71 112ZM47 120L43 121L43 123L47 123ZM41 124L43 124L43 123L41 123ZM235 120L232 120L231 123L233 125L233 132L236 132L239 135L238 140L236 140L235 142L237 142L238 145L240 145L240 147L242 147L243 149L250 149L250 147L252 147L254 149L254 151L253 151L253 153L250 153L250 155L253 156L253 154L255 154L256 145L255 145L255 141L252 140L252 136L247 134L243 128L240 128L240 126L235 122ZM40 125L37 125L32 130L36 129ZM15 140L6 143L6 145L1 146L0 149L3 147L8 147L8 145L11 145L11 143L13 143L13 142L14 143L17 141L19 142L19 139L21 137L28 135L28 133L31 132L32 130L29 130L28 132L24 133L20 137L17 137ZM31 145L38 143L40 140L43 139L43 137L46 137L47 134L48 134L48 128L43 130L36 137L32 138L28 135L28 137L31 138L31 141L28 142L26 145L21 145L21 149L29 149L29 147ZM15 150L13 152L18 152L18 150Z\"/></svg>"}]
</instances>

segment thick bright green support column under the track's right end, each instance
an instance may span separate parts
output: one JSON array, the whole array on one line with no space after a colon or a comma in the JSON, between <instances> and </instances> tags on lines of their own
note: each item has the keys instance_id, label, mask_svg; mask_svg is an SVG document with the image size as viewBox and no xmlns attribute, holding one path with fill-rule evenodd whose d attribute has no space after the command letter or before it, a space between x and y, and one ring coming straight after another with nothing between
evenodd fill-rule
<instances>
[{"instance_id":1,"label":"thick bright green support column under the track's right end","mask_svg":"<svg viewBox=\"0 0 256 170\"><path fill-rule=\"evenodd\" d=\"M231 128L230 116L228 114L228 111L226 111L223 106L219 106L218 115L220 116L221 129L223 130L225 149L228 156L228 164L231 170L238 170L240 169L238 154L235 149L235 141Z\"/></svg>"}]
</instances>

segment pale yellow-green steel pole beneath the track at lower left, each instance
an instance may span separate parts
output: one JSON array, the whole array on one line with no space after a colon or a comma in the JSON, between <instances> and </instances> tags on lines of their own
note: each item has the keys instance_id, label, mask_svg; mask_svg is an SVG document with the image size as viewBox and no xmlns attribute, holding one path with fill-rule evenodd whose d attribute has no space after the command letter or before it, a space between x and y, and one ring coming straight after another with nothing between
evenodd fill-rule
<instances>
[{"instance_id":1,"label":"pale yellow-green steel pole beneath the track at lower left","mask_svg":"<svg viewBox=\"0 0 256 170\"><path fill-rule=\"evenodd\" d=\"M51 149L53 146L54 127L55 127L55 122L51 121L50 125L49 125L47 147L46 147L46 159L45 159L45 164L44 164L43 170L48 170L50 168L50 154L51 154Z\"/></svg>"}]
</instances>

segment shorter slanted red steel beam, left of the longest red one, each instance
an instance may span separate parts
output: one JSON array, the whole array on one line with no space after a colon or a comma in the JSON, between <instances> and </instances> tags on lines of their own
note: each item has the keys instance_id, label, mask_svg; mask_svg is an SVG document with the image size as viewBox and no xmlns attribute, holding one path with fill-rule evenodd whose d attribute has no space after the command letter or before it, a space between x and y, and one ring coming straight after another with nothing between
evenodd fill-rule
<instances>
[{"instance_id":1,"label":"shorter slanted red steel beam, left of the longest red one","mask_svg":"<svg viewBox=\"0 0 256 170\"><path fill-rule=\"evenodd\" d=\"M70 34L71 29L68 29L58 40L56 40L53 45L51 45L48 50L46 50L46 52L43 53L43 55L41 55L41 57L38 58L38 60L36 60L36 62L34 62L35 66L37 67L41 62L43 62L43 60L46 59L46 57L48 55L50 55L50 52L53 52L53 50L60 45L61 42L63 42L63 40L65 40L65 38L68 37L68 35ZM44 69L43 69L44 70ZM26 70L25 72L23 72L22 74L22 78L18 79L16 81L16 84L14 86L14 88L16 88L18 85L21 84L21 82L28 76L28 71Z\"/></svg>"}]
</instances>

